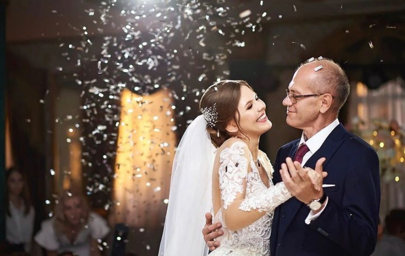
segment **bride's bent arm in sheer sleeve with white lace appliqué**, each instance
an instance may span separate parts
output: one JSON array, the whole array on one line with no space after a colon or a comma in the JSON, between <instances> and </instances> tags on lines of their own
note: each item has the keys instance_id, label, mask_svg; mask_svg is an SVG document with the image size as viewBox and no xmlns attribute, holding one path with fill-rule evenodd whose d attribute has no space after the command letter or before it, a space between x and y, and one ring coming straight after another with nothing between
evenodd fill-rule
<instances>
[{"instance_id":1,"label":"bride's bent arm in sheer sleeve with white lace appliqu\u00e9","mask_svg":"<svg viewBox=\"0 0 405 256\"><path fill-rule=\"evenodd\" d=\"M270 187L264 193L245 198L250 186L247 176L251 172L250 154L246 144L237 141L221 151L218 169L221 190L222 216L230 230L249 226L268 211L291 198L283 183Z\"/></svg>"}]
</instances>

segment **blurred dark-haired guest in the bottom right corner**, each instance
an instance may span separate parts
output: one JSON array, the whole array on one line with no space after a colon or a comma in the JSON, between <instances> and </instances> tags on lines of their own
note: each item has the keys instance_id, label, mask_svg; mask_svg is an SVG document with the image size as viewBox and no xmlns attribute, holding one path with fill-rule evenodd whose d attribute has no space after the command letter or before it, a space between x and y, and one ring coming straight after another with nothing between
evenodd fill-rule
<instances>
[{"instance_id":1,"label":"blurred dark-haired guest in the bottom right corner","mask_svg":"<svg viewBox=\"0 0 405 256\"><path fill-rule=\"evenodd\" d=\"M392 210L385 218L387 234L377 242L372 256L405 255L405 210Z\"/></svg>"}]
</instances>

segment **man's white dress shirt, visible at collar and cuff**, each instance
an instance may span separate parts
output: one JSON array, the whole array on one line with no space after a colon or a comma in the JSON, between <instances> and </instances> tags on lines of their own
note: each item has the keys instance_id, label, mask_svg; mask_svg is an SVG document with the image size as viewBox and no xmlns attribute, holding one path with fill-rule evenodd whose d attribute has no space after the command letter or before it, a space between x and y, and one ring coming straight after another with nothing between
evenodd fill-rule
<instances>
[{"instance_id":1,"label":"man's white dress shirt, visible at collar and cuff","mask_svg":"<svg viewBox=\"0 0 405 256\"><path fill-rule=\"evenodd\" d=\"M329 124L327 127L323 128L322 130L318 131L315 135L310 137L309 139L306 139L305 134L302 132L301 135L301 140L299 141L299 145L305 143L309 151L304 155L302 158L302 166L305 166L306 161L322 146L323 142L328 138L328 136L332 133L332 131L339 125L339 120L335 119L331 124ZM328 198L325 201L325 207L328 204ZM305 223L309 224L311 223L312 220L316 219L325 209L323 209L318 212L314 213L312 210L309 212L308 216L305 219Z\"/></svg>"}]
</instances>

